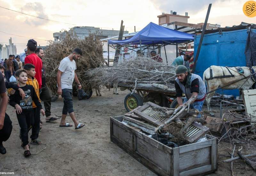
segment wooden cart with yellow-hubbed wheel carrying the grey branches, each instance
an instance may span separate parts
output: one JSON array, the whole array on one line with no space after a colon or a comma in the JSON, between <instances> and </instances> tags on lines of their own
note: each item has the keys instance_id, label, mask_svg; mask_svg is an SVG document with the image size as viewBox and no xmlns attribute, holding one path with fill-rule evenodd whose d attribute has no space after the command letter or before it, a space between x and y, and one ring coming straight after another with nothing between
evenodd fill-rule
<instances>
[{"instance_id":1,"label":"wooden cart with yellow-hubbed wheel carrying the grey branches","mask_svg":"<svg viewBox=\"0 0 256 176\"><path fill-rule=\"evenodd\" d=\"M134 89L134 85L118 84L118 86L121 91L128 89L132 92ZM178 102L175 94L176 92L171 90L136 86L136 91L133 94L129 93L124 98L124 107L129 112L142 106L143 103L151 101L162 107L176 108Z\"/></svg>"}]
</instances>

